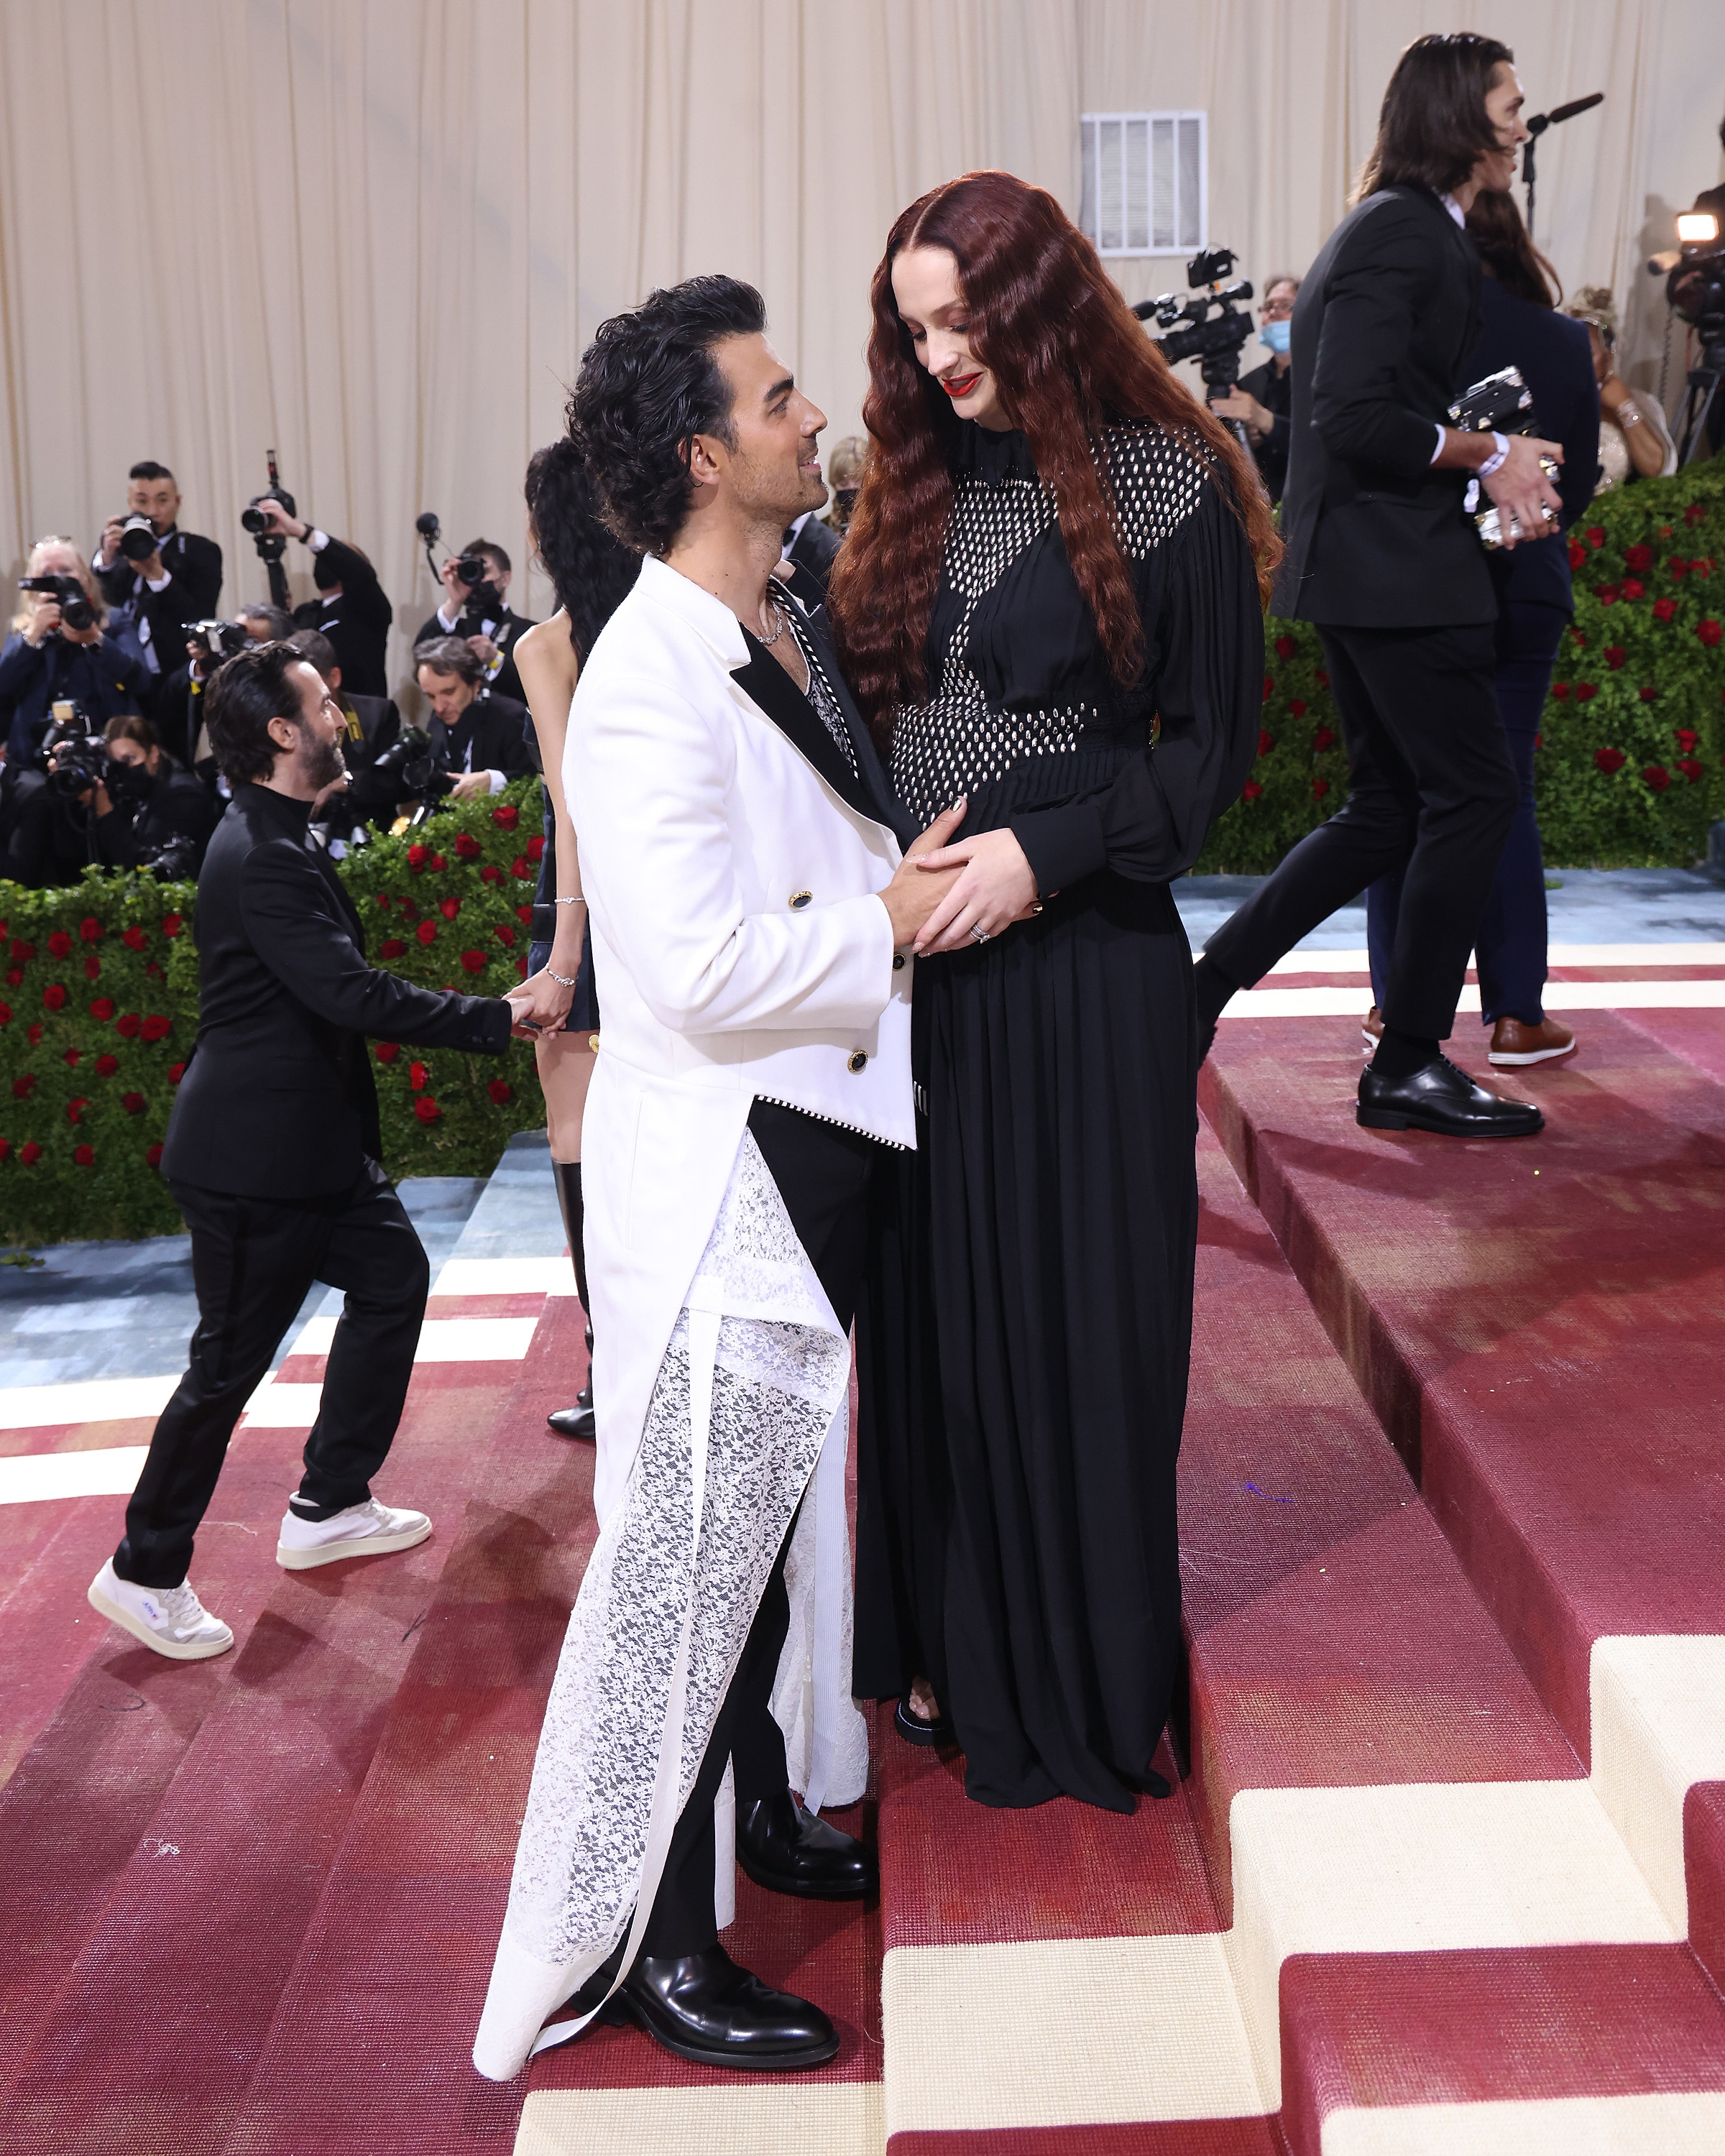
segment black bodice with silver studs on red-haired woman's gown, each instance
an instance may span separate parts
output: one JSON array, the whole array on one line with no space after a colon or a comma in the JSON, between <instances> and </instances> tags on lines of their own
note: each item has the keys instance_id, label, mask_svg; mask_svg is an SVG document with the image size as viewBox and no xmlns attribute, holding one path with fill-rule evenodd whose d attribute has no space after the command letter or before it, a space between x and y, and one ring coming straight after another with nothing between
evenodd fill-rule
<instances>
[{"instance_id":1,"label":"black bodice with silver studs on red-haired woman's gown","mask_svg":"<svg viewBox=\"0 0 1725 2156\"><path fill-rule=\"evenodd\" d=\"M1205 464L1151 425L1110 427L1104 451L1143 597L1147 563L1203 498ZM1026 787L1095 783L1095 752L1119 761L1145 746L1154 679L1128 694L1113 681L1024 436L966 427L927 671L934 696L903 707L893 731L893 785L923 824L960 793L972 811L979 796L1005 811Z\"/></svg>"}]
</instances>

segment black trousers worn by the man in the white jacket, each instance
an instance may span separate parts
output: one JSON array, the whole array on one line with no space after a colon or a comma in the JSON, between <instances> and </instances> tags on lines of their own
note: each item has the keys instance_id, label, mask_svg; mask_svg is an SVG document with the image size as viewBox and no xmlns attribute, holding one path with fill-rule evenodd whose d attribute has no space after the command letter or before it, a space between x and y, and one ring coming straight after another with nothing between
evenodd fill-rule
<instances>
[{"instance_id":1,"label":"black trousers worn by the man in the white jacket","mask_svg":"<svg viewBox=\"0 0 1725 2156\"><path fill-rule=\"evenodd\" d=\"M862 1287L875 1141L765 1100L757 1100L750 1108L748 1128L839 1324L850 1326ZM731 1759L735 1768L737 1813L759 1798L776 1796L787 1783L785 1738L772 1718L772 1680L778 1675L778 1656L785 1651L791 1621L785 1550L794 1531L796 1520L785 1533L737 1671L707 1738L701 1772L671 1837L653 1915L640 1940L643 1953L703 1953L718 1940L714 1798L724 1781L724 1761Z\"/></svg>"}]
</instances>

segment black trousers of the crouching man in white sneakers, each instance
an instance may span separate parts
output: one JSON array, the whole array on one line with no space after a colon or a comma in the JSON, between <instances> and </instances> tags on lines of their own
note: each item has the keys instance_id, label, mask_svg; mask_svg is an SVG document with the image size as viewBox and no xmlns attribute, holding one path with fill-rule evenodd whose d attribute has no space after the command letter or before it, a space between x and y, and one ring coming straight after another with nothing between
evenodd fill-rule
<instances>
[{"instance_id":1,"label":"black trousers of the crouching man in white sneakers","mask_svg":"<svg viewBox=\"0 0 1725 2156\"><path fill-rule=\"evenodd\" d=\"M431 1287L418 1231L375 1162L349 1190L315 1199L170 1188L192 1231L198 1328L114 1550L114 1572L140 1587L185 1578L233 1425L315 1281L345 1289L347 1307L293 1509L328 1520L364 1503L401 1421Z\"/></svg>"}]
</instances>

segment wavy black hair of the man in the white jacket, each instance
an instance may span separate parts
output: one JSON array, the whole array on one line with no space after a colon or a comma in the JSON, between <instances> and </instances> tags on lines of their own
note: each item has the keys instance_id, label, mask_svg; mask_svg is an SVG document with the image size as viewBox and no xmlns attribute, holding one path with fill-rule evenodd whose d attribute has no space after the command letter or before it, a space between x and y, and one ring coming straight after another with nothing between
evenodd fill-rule
<instances>
[{"instance_id":1,"label":"wavy black hair of the man in the white jacket","mask_svg":"<svg viewBox=\"0 0 1725 2156\"><path fill-rule=\"evenodd\" d=\"M759 291L733 276L686 278L599 323L569 399L569 433L604 496L606 524L636 554L664 554L684 526L694 436L727 448L735 440L714 345L765 323Z\"/></svg>"}]
</instances>

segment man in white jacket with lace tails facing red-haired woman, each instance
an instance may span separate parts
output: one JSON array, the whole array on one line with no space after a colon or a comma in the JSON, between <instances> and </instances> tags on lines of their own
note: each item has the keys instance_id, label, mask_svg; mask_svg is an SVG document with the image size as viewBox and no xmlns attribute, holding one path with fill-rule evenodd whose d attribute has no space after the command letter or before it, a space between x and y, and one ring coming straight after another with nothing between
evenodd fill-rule
<instances>
[{"instance_id":1,"label":"man in white jacket with lace tails facing red-haired woman","mask_svg":"<svg viewBox=\"0 0 1725 2156\"><path fill-rule=\"evenodd\" d=\"M871 1162L914 1145L910 951L955 873L914 854L962 804L910 834L774 576L826 420L763 328L733 278L658 291L604 323L571 405L645 556L565 759L606 1013L582 1145L602 1531L474 2046L494 2078L595 2014L707 2065L819 2065L828 2016L718 1945L735 1863L796 1895L873 1884L819 1818L867 1770L850 1324Z\"/></svg>"}]
</instances>

